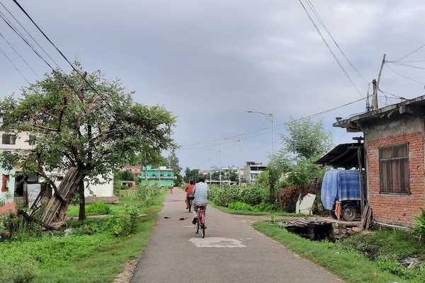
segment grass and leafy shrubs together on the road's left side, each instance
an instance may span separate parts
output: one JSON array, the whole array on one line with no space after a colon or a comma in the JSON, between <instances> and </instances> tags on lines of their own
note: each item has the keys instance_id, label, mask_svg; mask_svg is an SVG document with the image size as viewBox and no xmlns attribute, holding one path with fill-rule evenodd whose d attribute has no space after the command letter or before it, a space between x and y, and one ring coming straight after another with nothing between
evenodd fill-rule
<instances>
[{"instance_id":1,"label":"grass and leafy shrubs together on the road's left side","mask_svg":"<svg viewBox=\"0 0 425 283\"><path fill-rule=\"evenodd\" d=\"M0 243L0 282L112 282L123 264L139 258L147 246L167 191L160 192L149 206L120 197L119 204L106 204L113 216L69 220L64 233L42 232L36 226L18 229ZM69 208L70 214L78 214Z\"/></svg>"}]
</instances>

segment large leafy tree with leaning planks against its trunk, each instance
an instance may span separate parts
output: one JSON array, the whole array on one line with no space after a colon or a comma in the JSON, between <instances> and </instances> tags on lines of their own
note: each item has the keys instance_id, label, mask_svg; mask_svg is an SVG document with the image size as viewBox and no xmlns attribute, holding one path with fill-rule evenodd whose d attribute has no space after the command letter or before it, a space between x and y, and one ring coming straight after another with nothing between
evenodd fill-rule
<instances>
[{"instance_id":1,"label":"large leafy tree with leaning planks against its trunk","mask_svg":"<svg viewBox=\"0 0 425 283\"><path fill-rule=\"evenodd\" d=\"M0 163L46 180L55 191L53 197L62 202L57 225L64 223L77 192L84 200L84 178L98 183L98 175L108 178L113 168L125 166L143 149L176 148L171 138L176 117L170 111L136 103L119 80L107 81L100 71L88 74L76 64L79 74L53 71L23 88L22 98L8 96L0 103L2 131L26 131L37 139L33 150L1 154ZM78 178L67 196L60 195L52 172L71 167ZM84 202L79 218L84 218Z\"/></svg>"}]
</instances>

